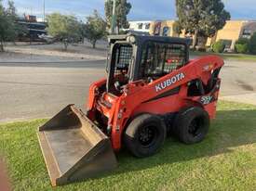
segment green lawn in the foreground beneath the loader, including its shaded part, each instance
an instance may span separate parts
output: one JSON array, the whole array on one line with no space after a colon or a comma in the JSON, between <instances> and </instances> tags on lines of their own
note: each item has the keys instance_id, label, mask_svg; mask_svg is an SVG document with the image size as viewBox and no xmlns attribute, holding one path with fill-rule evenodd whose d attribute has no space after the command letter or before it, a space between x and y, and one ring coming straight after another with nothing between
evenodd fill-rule
<instances>
[{"instance_id":1,"label":"green lawn in the foreground beneath the loader, including its shaded part","mask_svg":"<svg viewBox=\"0 0 256 191\"><path fill-rule=\"evenodd\" d=\"M51 190L36 129L46 120L0 125L0 150L14 190ZM186 146L168 138L154 157L117 155L119 167L98 179L53 190L255 190L256 108L221 102L209 135Z\"/></svg>"}]
</instances>

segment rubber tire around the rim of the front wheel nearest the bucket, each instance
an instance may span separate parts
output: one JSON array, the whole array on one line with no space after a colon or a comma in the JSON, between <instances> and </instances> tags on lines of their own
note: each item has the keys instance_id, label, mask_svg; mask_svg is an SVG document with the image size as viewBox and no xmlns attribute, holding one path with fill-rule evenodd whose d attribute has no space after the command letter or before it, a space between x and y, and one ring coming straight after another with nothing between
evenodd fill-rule
<instances>
[{"instance_id":1,"label":"rubber tire around the rim of the front wheel nearest the bucket","mask_svg":"<svg viewBox=\"0 0 256 191\"><path fill-rule=\"evenodd\" d=\"M143 147L139 141L139 130L145 125L154 125L158 132L155 143L147 148ZM167 135L165 122L152 114L141 114L133 119L124 134L124 143L131 154L137 158L145 158L154 155L163 145Z\"/></svg>"}]
</instances>

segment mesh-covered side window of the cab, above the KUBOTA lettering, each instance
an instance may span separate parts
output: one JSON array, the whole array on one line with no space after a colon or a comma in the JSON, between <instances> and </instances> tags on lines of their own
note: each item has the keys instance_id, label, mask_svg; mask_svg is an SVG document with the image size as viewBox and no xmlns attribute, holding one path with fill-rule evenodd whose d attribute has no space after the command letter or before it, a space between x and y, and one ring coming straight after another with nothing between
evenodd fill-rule
<instances>
[{"instance_id":1,"label":"mesh-covered side window of the cab, above the KUBOTA lettering","mask_svg":"<svg viewBox=\"0 0 256 191\"><path fill-rule=\"evenodd\" d=\"M161 77L185 64L185 45L150 42L143 47L142 77Z\"/></svg>"}]
</instances>

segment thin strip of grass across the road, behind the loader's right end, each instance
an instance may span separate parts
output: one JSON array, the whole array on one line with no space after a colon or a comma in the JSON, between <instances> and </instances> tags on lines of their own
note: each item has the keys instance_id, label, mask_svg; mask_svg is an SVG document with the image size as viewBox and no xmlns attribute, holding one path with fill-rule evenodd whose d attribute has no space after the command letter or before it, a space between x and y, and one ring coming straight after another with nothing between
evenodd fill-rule
<instances>
[{"instance_id":1,"label":"thin strip of grass across the road, behind the loader's right end","mask_svg":"<svg viewBox=\"0 0 256 191\"><path fill-rule=\"evenodd\" d=\"M256 62L256 56L246 54L230 54L230 53L209 53L209 52L191 52L191 56L205 56L205 55L217 55L223 59L230 59L236 61L254 61Z\"/></svg>"}]
</instances>

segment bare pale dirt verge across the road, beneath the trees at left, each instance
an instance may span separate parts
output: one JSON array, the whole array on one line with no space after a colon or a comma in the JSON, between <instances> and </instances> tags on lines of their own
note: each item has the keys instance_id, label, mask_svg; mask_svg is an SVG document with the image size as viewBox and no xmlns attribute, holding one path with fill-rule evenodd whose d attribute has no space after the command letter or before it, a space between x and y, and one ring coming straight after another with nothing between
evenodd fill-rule
<instances>
[{"instance_id":1,"label":"bare pale dirt verge across the road, beneath the trees at left","mask_svg":"<svg viewBox=\"0 0 256 191\"><path fill-rule=\"evenodd\" d=\"M6 46L6 53L0 54L0 62L30 62L30 61L64 61L64 60L101 60L107 53L107 42L100 41L93 49L88 42L78 45L69 45L63 50L60 43L51 45L18 43Z\"/></svg>"}]
</instances>

